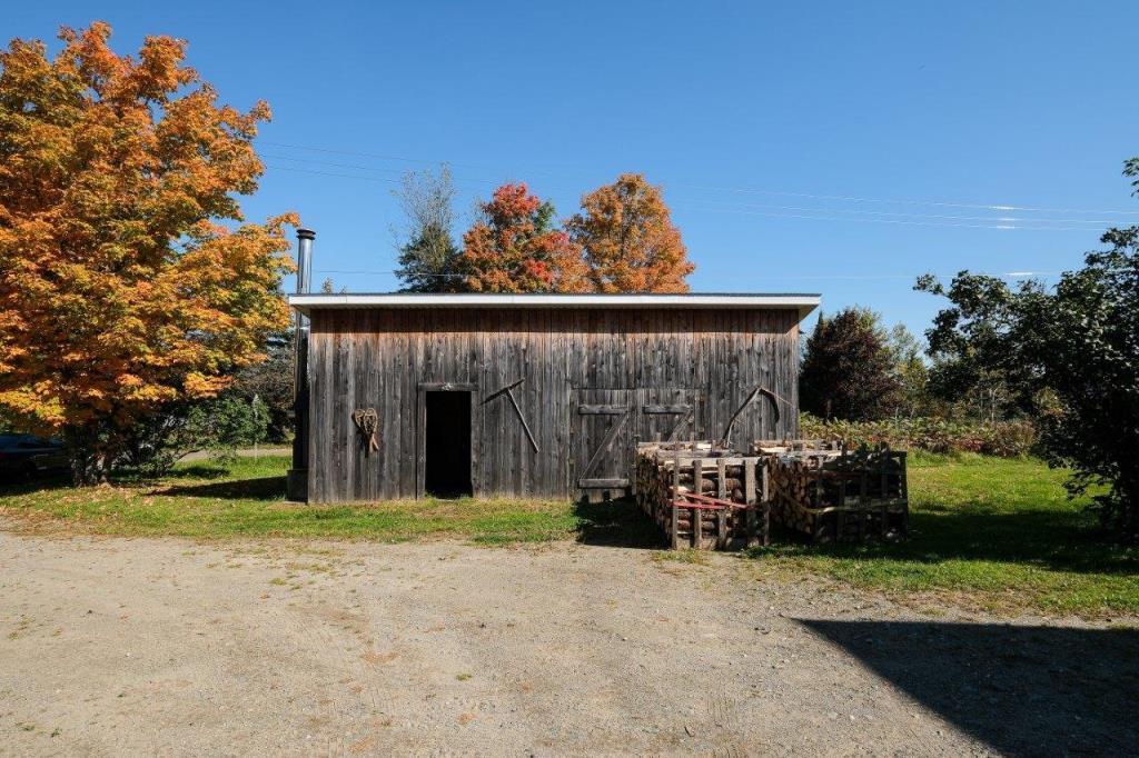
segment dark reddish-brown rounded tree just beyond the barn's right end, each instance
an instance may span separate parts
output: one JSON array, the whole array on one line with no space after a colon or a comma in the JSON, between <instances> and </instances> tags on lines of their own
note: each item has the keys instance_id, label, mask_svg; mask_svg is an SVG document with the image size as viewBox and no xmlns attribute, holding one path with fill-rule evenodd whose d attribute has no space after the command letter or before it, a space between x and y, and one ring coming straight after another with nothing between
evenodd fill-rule
<instances>
[{"instance_id":1,"label":"dark reddish-brown rounded tree just beyond the barn's right end","mask_svg":"<svg viewBox=\"0 0 1139 758\"><path fill-rule=\"evenodd\" d=\"M900 384L877 315L846 308L819 315L800 372L802 409L823 419L869 421L891 415Z\"/></svg>"}]
</instances>

